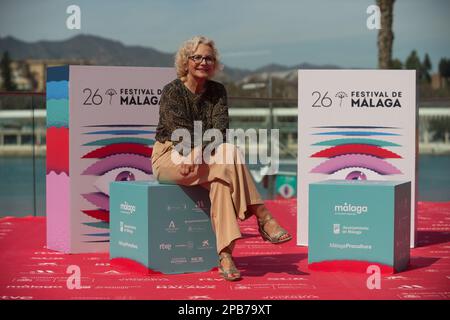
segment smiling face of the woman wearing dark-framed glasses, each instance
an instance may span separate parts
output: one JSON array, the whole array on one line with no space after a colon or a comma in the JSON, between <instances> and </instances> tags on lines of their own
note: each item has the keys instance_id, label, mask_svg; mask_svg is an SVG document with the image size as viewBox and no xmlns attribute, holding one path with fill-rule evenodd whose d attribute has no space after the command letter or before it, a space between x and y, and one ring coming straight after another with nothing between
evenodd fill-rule
<instances>
[{"instance_id":1,"label":"smiling face of the woman wearing dark-framed glasses","mask_svg":"<svg viewBox=\"0 0 450 320\"><path fill-rule=\"evenodd\" d=\"M214 74L215 57L213 49L201 43L188 59L188 74L200 79L208 79Z\"/></svg>"}]
</instances>

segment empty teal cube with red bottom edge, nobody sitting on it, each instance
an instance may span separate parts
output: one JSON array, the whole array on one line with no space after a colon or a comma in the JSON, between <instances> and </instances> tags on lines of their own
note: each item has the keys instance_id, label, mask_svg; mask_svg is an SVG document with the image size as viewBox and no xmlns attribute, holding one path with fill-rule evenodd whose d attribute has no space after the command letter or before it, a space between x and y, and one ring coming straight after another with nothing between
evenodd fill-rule
<instances>
[{"instance_id":1,"label":"empty teal cube with red bottom edge, nobody sitting on it","mask_svg":"<svg viewBox=\"0 0 450 320\"><path fill-rule=\"evenodd\" d=\"M382 273L409 263L411 183L328 180L309 185L309 268Z\"/></svg>"}]
</instances>

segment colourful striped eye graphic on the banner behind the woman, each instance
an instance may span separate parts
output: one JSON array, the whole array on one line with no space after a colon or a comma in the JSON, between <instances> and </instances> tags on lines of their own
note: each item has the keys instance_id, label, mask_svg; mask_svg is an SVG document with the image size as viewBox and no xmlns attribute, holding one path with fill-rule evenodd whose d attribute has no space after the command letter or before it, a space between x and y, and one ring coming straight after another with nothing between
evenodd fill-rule
<instances>
[{"instance_id":1,"label":"colourful striped eye graphic on the banner behind the woman","mask_svg":"<svg viewBox=\"0 0 450 320\"><path fill-rule=\"evenodd\" d=\"M96 127L96 126L90 126ZM112 135L110 137L89 141L83 146L93 146L95 149L82 156L83 159L96 159L88 166L82 175L97 176L93 182L96 192L81 194L95 209L82 210L83 214L98 221L84 223L84 225L103 229L99 233L84 234L90 239L86 242L108 242L102 237L109 237L105 229L109 229L109 184L112 181L135 181L152 180L153 171L150 157L153 151L153 139L139 137L154 133L153 130L131 130L120 125L103 125L98 127L108 127L109 130L90 131L85 135ZM136 125L133 127L137 127ZM148 126L138 126L148 127Z\"/></svg>"}]
</instances>

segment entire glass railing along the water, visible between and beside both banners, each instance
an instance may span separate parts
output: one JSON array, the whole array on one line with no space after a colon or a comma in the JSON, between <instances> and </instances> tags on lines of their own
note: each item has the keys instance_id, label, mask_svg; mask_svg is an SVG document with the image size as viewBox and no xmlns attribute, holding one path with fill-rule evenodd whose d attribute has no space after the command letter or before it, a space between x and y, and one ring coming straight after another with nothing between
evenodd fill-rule
<instances>
[{"instance_id":1,"label":"entire glass railing along the water, visible between and beside both banners","mask_svg":"<svg viewBox=\"0 0 450 320\"><path fill-rule=\"evenodd\" d=\"M280 174L295 176L297 100L231 97L229 105L230 128L279 129ZM450 99L419 106L419 199L450 201ZM0 93L0 217L45 215L45 134L44 93ZM263 197L274 198L275 177L251 169Z\"/></svg>"}]
</instances>

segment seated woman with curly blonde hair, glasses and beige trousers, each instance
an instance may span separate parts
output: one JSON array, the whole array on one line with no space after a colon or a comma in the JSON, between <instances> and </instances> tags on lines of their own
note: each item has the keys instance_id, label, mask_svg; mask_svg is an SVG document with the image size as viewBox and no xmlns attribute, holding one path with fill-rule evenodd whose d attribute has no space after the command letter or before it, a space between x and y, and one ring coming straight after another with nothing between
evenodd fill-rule
<instances>
[{"instance_id":1,"label":"seated woman with curly blonde hair, glasses and beige trousers","mask_svg":"<svg viewBox=\"0 0 450 320\"><path fill-rule=\"evenodd\" d=\"M166 85L161 95L152 167L159 181L201 185L209 190L219 273L233 281L241 277L232 259L235 241L241 237L237 218L244 220L256 215L261 236L272 243L289 241L292 236L264 206L242 154L233 144L226 143L225 139L220 141L209 161L201 158L205 145L188 142L190 153L186 156L174 151L179 145L172 134L177 129L185 129L193 137L194 121L201 121L203 132L217 129L225 137L229 123L227 93L222 84L210 80L219 66L217 49L208 38L194 37L177 52L178 78ZM186 141L179 143L186 147ZM231 161L211 161L223 155Z\"/></svg>"}]
</instances>

